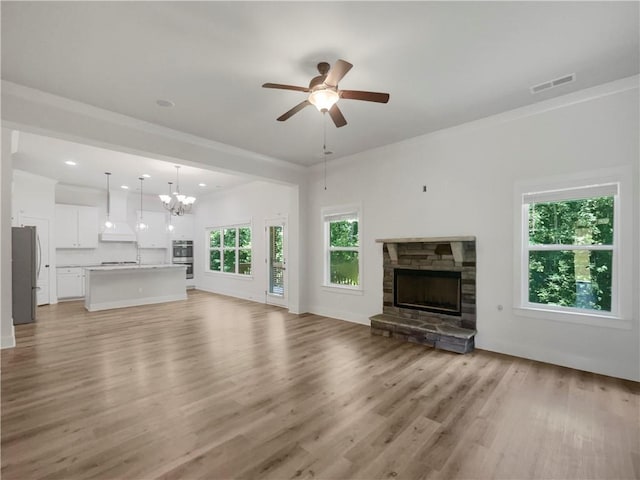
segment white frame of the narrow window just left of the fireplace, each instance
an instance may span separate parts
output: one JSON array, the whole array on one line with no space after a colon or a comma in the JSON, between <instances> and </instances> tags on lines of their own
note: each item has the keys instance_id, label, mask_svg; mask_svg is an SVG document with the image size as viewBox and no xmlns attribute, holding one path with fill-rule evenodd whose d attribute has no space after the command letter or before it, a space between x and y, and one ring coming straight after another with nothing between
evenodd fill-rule
<instances>
[{"instance_id":1,"label":"white frame of the narrow window just left of the fireplace","mask_svg":"<svg viewBox=\"0 0 640 480\"><path fill-rule=\"evenodd\" d=\"M357 247L332 247L330 238L330 223L340 220L355 219L358 221L358 246ZM323 232L323 278L322 286L327 289L336 289L343 293L362 293L362 209L359 205L345 205L340 207L325 207L322 209ZM358 285L342 285L331 282L331 252L349 251L358 253Z\"/></svg>"}]
</instances>

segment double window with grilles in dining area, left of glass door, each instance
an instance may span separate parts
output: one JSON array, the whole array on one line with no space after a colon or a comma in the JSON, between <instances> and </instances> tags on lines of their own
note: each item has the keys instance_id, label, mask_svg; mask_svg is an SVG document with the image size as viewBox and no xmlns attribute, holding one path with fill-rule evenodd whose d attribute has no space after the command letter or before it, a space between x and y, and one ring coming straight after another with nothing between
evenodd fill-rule
<instances>
[{"instance_id":1,"label":"double window with grilles in dining area, left of glass door","mask_svg":"<svg viewBox=\"0 0 640 480\"><path fill-rule=\"evenodd\" d=\"M212 228L207 238L209 271L251 275L251 227Z\"/></svg>"}]
</instances>

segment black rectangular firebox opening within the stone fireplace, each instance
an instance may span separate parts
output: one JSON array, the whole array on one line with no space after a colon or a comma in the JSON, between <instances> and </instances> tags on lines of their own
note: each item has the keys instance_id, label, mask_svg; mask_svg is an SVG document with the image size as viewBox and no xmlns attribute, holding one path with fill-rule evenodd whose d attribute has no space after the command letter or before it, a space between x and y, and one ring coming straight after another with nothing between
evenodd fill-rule
<instances>
[{"instance_id":1,"label":"black rectangular firebox opening within the stone fireplace","mask_svg":"<svg viewBox=\"0 0 640 480\"><path fill-rule=\"evenodd\" d=\"M393 272L393 303L399 308L460 316L460 272L396 268Z\"/></svg>"}]
</instances>

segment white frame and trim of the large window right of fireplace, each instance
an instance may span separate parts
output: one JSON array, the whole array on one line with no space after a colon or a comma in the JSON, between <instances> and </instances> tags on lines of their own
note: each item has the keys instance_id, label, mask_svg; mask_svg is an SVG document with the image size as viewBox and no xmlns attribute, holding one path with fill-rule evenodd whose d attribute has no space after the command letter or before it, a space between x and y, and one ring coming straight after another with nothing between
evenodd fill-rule
<instances>
[{"instance_id":1,"label":"white frame and trim of the large window right of fireplace","mask_svg":"<svg viewBox=\"0 0 640 480\"><path fill-rule=\"evenodd\" d=\"M574 175L556 176L537 180L516 182L514 186L514 290L513 311L517 317L584 324L596 327L629 330L632 328L634 272L633 257L633 176L629 167L614 167ZM611 312L574 307L561 307L529 302L529 225L526 195L534 193L562 192L571 189L599 188L615 184L614 196L614 240L611 277ZM602 195L592 195L597 197ZM548 197L551 198L551 197ZM583 197L584 198L584 197ZM566 200L564 197L557 201ZM553 201L553 200L549 200ZM563 246L566 247L566 246ZM594 246L596 247L596 246ZM582 246L581 248L584 248ZM563 249L560 247L559 249ZM566 248L564 248L566 250ZM593 248L594 250L602 247Z\"/></svg>"}]
</instances>

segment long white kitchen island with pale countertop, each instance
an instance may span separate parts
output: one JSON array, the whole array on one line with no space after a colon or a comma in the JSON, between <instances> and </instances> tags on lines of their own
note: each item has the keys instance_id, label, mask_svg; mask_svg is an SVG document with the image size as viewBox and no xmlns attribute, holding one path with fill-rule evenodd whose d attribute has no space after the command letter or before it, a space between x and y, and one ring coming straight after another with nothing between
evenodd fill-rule
<instances>
[{"instance_id":1,"label":"long white kitchen island with pale countertop","mask_svg":"<svg viewBox=\"0 0 640 480\"><path fill-rule=\"evenodd\" d=\"M84 306L90 312L187 298L184 265L109 265L85 268Z\"/></svg>"}]
</instances>

